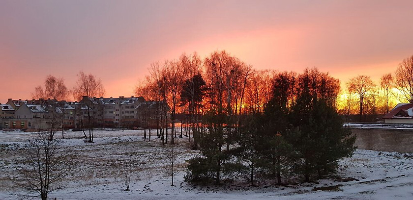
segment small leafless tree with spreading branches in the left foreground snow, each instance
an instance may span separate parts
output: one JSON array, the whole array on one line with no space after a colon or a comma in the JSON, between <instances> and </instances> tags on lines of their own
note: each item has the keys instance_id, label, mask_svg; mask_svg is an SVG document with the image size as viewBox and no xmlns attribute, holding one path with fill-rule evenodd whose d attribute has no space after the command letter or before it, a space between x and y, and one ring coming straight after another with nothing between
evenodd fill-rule
<instances>
[{"instance_id":1,"label":"small leafless tree with spreading branches in the left foreground snow","mask_svg":"<svg viewBox=\"0 0 413 200\"><path fill-rule=\"evenodd\" d=\"M18 175L11 180L27 194L16 195L47 200L51 192L62 189L59 183L68 175L71 163L59 140L49 140L47 132L34 133L23 155L27 164L17 169Z\"/></svg>"}]
</instances>

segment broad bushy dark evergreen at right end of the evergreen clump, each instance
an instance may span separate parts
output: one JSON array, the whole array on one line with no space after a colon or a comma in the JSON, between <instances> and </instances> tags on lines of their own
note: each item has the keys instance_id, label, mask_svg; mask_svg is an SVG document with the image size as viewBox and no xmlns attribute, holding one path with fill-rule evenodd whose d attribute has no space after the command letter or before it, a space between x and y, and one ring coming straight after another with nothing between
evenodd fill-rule
<instances>
[{"instance_id":1,"label":"broad bushy dark evergreen at right end of the evergreen clump","mask_svg":"<svg viewBox=\"0 0 413 200\"><path fill-rule=\"evenodd\" d=\"M337 162L354 152L355 137L342 127L336 111L324 100L311 96L305 89L293 106L290 120L295 127L294 137L289 137L299 154L295 169L305 181L316 172L319 178L337 168Z\"/></svg>"}]
</instances>

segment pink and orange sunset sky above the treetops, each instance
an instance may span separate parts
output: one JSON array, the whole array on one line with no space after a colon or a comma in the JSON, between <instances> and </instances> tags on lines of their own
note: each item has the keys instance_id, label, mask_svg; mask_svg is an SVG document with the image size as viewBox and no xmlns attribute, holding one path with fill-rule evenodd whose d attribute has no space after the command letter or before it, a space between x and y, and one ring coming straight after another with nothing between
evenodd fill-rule
<instances>
[{"instance_id":1,"label":"pink and orange sunset sky above the treetops","mask_svg":"<svg viewBox=\"0 0 413 200\"><path fill-rule=\"evenodd\" d=\"M79 71L130 96L150 63L226 50L255 69L339 78L394 73L413 55L411 0L1 0L0 102Z\"/></svg>"}]
</instances>

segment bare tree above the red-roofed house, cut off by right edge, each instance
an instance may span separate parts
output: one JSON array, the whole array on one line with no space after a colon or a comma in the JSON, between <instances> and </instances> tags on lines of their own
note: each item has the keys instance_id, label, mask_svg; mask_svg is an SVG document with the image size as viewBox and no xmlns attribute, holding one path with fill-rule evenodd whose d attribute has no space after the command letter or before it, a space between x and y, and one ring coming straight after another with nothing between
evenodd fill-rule
<instances>
[{"instance_id":1,"label":"bare tree above the red-roofed house, cut off by right edge","mask_svg":"<svg viewBox=\"0 0 413 200\"><path fill-rule=\"evenodd\" d=\"M413 101L413 55L404 59L395 72L395 86L403 95L403 101ZM402 100L401 100L402 101Z\"/></svg>"}]
</instances>

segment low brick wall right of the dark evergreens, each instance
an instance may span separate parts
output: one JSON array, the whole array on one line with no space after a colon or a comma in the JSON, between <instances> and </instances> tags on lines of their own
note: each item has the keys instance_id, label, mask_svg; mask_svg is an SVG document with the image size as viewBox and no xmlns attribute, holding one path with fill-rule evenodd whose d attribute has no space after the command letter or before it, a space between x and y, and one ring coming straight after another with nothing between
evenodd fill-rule
<instances>
[{"instance_id":1,"label":"low brick wall right of the dark evergreens","mask_svg":"<svg viewBox=\"0 0 413 200\"><path fill-rule=\"evenodd\" d=\"M413 152L413 130L385 128L351 128L355 146L364 150Z\"/></svg>"}]
</instances>

